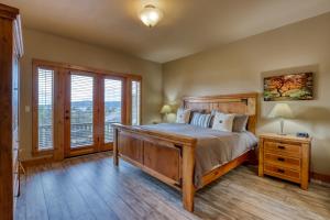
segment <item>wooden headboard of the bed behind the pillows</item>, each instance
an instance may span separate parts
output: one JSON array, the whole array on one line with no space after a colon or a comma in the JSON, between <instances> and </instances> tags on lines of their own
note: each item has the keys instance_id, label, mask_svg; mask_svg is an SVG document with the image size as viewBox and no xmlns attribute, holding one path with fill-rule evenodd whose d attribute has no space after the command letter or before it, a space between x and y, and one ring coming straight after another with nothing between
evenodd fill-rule
<instances>
[{"instance_id":1,"label":"wooden headboard of the bed behind the pillows","mask_svg":"<svg viewBox=\"0 0 330 220\"><path fill-rule=\"evenodd\" d=\"M183 103L184 108L187 109L202 109L207 112L219 110L223 113L248 114L248 130L255 133L257 119L257 92L184 97Z\"/></svg>"}]
</instances>

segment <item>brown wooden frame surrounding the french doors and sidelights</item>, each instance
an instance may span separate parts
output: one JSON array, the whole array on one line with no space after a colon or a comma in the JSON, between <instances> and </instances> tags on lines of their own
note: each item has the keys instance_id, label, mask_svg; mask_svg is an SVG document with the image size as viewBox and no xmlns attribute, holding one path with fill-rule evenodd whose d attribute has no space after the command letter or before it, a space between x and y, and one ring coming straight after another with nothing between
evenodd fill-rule
<instances>
[{"instance_id":1,"label":"brown wooden frame surrounding the french doors and sidelights","mask_svg":"<svg viewBox=\"0 0 330 220\"><path fill-rule=\"evenodd\" d=\"M97 68L90 68L90 67L85 67L85 66L78 66L78 65L72 65L72 64L65 64L65 63L57 63L57 62L48 62L48 61L43 61L43 59L32 59L32 68L33 68L33 77L35 77L36 69L37 67L41 68L46 68L46 69L52 69L54 70L54 147L53 150L46 151L46 152L38 152L37 144L35 141L33 141L33 156L51 156L55 161L62 161L65 158L66 155L66 146L65 146L65 109L67 108L66 103L66 95L68 94L66 90L69 88L66 84L67 75L70 72L76 72L76 73L87 73L87 74L94 74L96 76L97 81L97 92L100 95L99 97L96 97L99 103L99 114L98 114L98 120L100 123L102 122L102 116L101 111L103 111L101 107L101 102L103 99L103 85L102 81L105 78L118 78L123 80L122 85L122 96L123 96L123 102L122 102L122 123L123 124L130 124L131 123L131 116L132 116L132 109L131 109L131 97L132 97L132 90L131 90L131 84L132 81L140 81L141 86L141 98L140 98L140 122L142 120L142 77L139 75L133 75L133 74L125 74L125 73L116 73L111 70L102 70L102 69L97 69ZM33 97L36 95L36 89L37 89L37 81L35 81L35 78L33 78ZM35 98L33 98L33 110L35 109ZM35 102L36 103L36 102ZM35 124L35 117L33 117L33 124ZM95 129L95 131L98 132L99 135L99 142L97 146L97 152L99 151L109 151L112 147L112 144L107 144L109 145L108 147L102 146L102 125L100 125L98 129ZM33 140L37 140L37 127L33 125ZM95 151L92 151L95 152ZM85 151L80 152L82 153L92 153L91 151ZM75 154L75 155L78 155Z\"/></svg>"}]
</instances>

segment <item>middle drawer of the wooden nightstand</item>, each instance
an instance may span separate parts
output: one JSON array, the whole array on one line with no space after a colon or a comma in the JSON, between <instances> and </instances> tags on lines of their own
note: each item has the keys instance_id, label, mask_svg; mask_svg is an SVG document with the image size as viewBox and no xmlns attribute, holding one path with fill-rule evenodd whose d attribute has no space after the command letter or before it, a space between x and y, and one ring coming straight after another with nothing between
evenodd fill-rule
<instances>
[{"instance_id":1,"label":"middle drawer of the wooden nightstand","mask_svg":"<svg viewBox=\"0 0 330 220\"><path fill-rule=\"evenodd\" d=\"M287 167L300 172L300 158L265 153L265 163Z\"/></svg>"}]
</instances>

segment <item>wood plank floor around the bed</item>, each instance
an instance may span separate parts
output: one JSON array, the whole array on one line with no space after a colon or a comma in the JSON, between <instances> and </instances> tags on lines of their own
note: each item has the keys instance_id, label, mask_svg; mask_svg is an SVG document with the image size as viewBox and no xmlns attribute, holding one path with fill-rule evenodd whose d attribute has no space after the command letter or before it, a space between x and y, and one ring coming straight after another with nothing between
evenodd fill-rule
<instances>
[{"instance_id":1,"label":"wood plank floor around the bed","mask_svg":"<svg viewBox=\"0 0 330 220\"><path fill-rule=\"evenodd\" d=\"M110 153L31 167L22 177L18 220L46 219L330 219L330 187L309 190L257 177L241 166L196 194L195 212L180 194Z\"/></svg>"}]
</instances>

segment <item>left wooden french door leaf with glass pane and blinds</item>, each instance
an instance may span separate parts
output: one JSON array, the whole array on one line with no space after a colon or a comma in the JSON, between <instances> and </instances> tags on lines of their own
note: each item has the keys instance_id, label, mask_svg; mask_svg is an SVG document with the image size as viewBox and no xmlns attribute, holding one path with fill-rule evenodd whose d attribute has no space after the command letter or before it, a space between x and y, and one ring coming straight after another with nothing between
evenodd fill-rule
<instances>
[{"instance_id":1,"label":"left wooden french door leaf with glass pane and blinds","mask_svg":"<svg viewBox=\"0 0 330 220\"><path fill-rule=\"evenodd\" d=\"M66 77L65 156L98 150L97 80L90 73L70 72Z\"/></svg>"}]
</instances>

